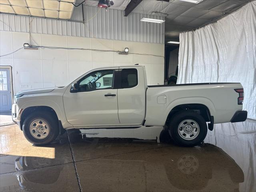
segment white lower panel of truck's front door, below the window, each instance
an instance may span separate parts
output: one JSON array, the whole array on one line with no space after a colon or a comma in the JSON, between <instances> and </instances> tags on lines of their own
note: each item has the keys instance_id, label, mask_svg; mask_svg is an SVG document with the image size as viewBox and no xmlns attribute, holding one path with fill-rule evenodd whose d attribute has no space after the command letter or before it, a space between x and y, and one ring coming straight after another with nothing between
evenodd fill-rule
<instances>
[{"instance_id":1,"label":"white lower panel of truck's front door, below the window","mask_svg":"<svg viewBox=\"0 0 256 192\"><path fill-rule=\"evenodd\" d=\"M105 94L116 96L105 97ZM66 118L74 126L119 124L116 89L77 93L67 89L63 102Z\"/></svg>"}]
</instances>

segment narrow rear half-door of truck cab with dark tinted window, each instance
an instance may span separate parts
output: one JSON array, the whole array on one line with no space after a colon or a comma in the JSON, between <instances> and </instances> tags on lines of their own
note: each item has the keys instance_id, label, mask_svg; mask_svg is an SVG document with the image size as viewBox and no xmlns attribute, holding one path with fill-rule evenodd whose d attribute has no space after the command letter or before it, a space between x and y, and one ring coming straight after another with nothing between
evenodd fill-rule
<instances>
[{"instance_id":1,"label":"narrow rear half-door of truck cab with dark tinted window","mask_svg":"<svg viewBox=\"0 0 256 192\"><path fill-rule=\"evenodd\" d=\"M120 67L118 116L121 124L142 124L145 116L145 80L141 66Z\"/></svg>"}]
</instances>

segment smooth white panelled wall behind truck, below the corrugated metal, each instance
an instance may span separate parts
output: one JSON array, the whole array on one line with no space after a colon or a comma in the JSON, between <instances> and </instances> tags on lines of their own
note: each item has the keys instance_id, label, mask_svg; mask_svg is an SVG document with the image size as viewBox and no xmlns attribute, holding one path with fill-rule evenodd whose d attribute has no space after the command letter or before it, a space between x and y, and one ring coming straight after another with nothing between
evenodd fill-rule
<instances>
[{"instance_id":1,"label":"smooth white panelled wall behind truck, below the corrugated metal","mask_svg":"<svg viewBox=\"0 0 256 192\"><path fill-rule=\"evenodd\" d=\"M164 44L127 42L75 36L31 34L38 46L124 50L130 53L164 56ZM29 42L29 33L0 31L0 55L11 53ZM0 65L12 66L14 93L33 88L66 85L93 68L142 64L146 67L148 84L163 84L164 58L149 55L92 50L38 48L24 50L0 58Z\"/></svg>"}]
</instances>

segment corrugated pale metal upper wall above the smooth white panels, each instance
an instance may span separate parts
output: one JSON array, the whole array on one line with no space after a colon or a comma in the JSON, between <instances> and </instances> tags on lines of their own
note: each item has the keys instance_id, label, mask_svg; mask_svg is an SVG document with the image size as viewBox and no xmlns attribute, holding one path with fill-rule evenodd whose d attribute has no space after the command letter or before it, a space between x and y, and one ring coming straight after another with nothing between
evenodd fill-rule
<instances>
[{"instance_id":1,"label":"corrugated pale metal upper wall above the smooth white panels","mask_svg":"<svg viewBox=\"0 0 256 192\"><path fill-rule=\"evenodd\" d=\"M30 23L32 33L164 44L164 23L141 22L143 17L164 19L139 13L124 17L122 10L84 6L83 24L80 6L72 15L72 20L78 22L0 14L0 30L29 32Z\"/></svg>"}]
</instances>

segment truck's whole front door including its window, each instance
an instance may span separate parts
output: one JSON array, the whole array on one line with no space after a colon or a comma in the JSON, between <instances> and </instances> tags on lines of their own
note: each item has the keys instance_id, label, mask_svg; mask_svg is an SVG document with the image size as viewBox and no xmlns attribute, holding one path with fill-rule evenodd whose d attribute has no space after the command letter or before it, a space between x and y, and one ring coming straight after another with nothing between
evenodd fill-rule
<instances>
[{"instance_id":1,"label":"truck's whole front door including its window","mask_svg":"<svg viewBox=\"0 0 256 192\"><path fill-rule=\"evenodd\" d=\"M94 70L78 79L78 90L71 85L63 95L67 121L74 126L120 124L117 89L113 89L115 70Z\"/></svg>"}]
</instances>

